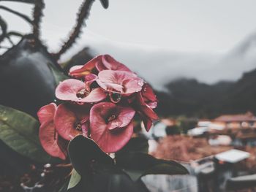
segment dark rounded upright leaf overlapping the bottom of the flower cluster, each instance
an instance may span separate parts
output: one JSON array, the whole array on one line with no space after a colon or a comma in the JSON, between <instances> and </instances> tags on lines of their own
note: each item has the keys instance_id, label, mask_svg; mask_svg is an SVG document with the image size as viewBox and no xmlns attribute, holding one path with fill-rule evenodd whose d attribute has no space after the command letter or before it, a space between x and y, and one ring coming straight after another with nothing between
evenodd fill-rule
<instances>
[{"instance_id":1,"label":"dark rounded upright leaf overlapping the bottom of the flower cluster","mask_svg":"<svg viewBox=\"0 0 256 192\"><path fill-rule=\"evenodd\" d=\"M69 142L69 157L75 170L82 174L91 171L91 164L113 165L114 161L92 140L78 135Z\"/></svg>"}]
</instances>

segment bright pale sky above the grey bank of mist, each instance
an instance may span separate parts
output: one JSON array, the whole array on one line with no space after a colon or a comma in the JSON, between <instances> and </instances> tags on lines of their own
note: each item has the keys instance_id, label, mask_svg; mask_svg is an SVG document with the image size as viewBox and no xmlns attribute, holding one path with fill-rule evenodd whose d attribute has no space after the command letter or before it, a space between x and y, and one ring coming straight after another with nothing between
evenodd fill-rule
<instances>
[{"instance_id":1,"label":"bright pale sky above the grey bank of mist","mask_svg":"<svg viewBox=\"0 0 256 192\"><path fill-rule=\"evenodd\" d=\"M0 2L31 14L31 6ZM80 0L45 0L42 39L57 49L75 22ZM84 28L116 42L166 47L176 51L222 52L256 31L255 0L110 0L103 9L96 0ZM10 28L29 26L3 10Z\"/></svg>"}]
</instances>

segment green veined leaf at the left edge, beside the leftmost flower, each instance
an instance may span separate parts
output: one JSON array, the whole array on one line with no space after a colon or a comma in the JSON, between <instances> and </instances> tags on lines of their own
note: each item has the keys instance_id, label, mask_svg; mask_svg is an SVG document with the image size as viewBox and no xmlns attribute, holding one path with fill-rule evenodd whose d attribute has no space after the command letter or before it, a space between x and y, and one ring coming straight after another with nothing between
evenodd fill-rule
<instances>
[{"instance_id":1,"label":"green veined leaf at the left edge, beside the leftmost flower","mask_svg":"<svg viewBox=\"0 0 256 192\"><path fill-rule=\"evenodd\" d=\"M0 139L21 155L48 163L50 156L41 147L38 129L39 122L30 115L0 105Z\"/></svg>"}]
</instances>

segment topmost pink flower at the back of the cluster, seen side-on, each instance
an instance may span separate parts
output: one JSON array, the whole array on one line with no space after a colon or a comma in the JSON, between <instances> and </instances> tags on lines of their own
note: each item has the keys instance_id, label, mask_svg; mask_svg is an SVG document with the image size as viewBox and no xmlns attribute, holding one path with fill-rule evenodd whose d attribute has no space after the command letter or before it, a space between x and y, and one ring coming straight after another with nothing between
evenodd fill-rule
<instances>
[{"instance_id":1,"label":"topmost pink flower at the back of the cluster, seen side-on","mask_svg":"<svg viewBox=\"0 0 256 192\"><path fill-rule=\"evenodd\" d=\"M69 75L76 78L82 78L86 74L97 74L97 72L106 69L131 72L127 66L119 63L110 55L99 55L83 66L72 66L69 70Z\"/></svg>"}]
</instances>

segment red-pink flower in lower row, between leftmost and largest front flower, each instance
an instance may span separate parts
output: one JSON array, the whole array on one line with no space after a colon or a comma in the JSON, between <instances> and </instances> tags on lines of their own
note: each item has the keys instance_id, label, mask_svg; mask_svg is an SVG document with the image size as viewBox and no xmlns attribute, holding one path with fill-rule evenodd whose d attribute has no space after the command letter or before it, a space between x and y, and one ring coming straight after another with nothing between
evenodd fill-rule
<instances>
[{"instance_id":1,"label":"red-pink flower in lower row, between leftmost and largest front flower","mask_svg":"<svg viewBox=\"0 0 256 192\"><path fill-rule=\"evenodd\" d=\"M73 139L78 134L88 136L90 107L60 104L54 116L54 125L64 139Z\"/></svg>"}]
</instances>

